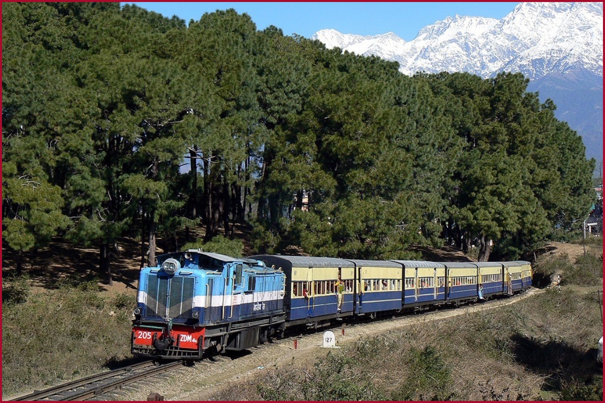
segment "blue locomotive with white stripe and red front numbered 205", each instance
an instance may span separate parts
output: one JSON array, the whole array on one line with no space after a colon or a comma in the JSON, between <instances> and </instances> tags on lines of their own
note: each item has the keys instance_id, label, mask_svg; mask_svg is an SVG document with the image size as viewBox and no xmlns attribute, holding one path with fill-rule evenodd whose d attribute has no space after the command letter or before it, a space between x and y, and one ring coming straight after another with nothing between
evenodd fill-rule
<instances>
[{"instance_id":1,"label":"blue locomotive with white stripe and red front numbered 205","mask_svg":"<svg viewBox=\"0 0 605 403\"><path fill-rule=\"evenodd\" d=\"M131 350L199 359L244 350L285 327L283 271L255 259L189 250L158 257L139 276Z\"/></svg>"}]
</instances>

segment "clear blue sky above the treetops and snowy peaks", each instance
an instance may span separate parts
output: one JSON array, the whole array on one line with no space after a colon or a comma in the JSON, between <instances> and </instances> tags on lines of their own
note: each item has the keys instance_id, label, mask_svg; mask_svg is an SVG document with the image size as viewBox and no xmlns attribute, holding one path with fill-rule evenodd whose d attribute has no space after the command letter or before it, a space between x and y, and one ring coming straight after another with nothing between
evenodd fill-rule
<instances>
[{"instance_id":1,"label":"clear blue sky above the treetops and snowy peaks","mask_svg":"<svg viewBox=\"0 0 605 403\"><path fill-rule=\"evenodd\" d=\"M332 28L341 33L376 35L393 32L412 40L418 31L456 14L501 19L518 2L122 2L166 17L198 21L204 13L235 8L263 30L269 25L286 35L310 37Z\"/></svg>"}]
</instances>

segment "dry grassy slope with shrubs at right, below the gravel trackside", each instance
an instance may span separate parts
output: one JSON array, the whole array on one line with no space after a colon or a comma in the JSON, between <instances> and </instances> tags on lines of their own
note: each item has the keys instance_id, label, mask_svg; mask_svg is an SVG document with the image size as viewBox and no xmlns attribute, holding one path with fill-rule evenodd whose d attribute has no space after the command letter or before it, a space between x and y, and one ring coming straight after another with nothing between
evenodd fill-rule
<instances>
[{"instance_id":1,"label":"dry grassy slope with shrubs at right, below the gravel trackside","mask_svg":"<svg viewBox=\"0 0 605 403\"><path fill-rule=\"evenodd\" d=\"M584 389L602 376L598 301L552 289L502 309L364 338L311 363L266 369L211 399L558 400L571 385L595 400L602 388L596 395Z\"/></svg>"}]
</instances>

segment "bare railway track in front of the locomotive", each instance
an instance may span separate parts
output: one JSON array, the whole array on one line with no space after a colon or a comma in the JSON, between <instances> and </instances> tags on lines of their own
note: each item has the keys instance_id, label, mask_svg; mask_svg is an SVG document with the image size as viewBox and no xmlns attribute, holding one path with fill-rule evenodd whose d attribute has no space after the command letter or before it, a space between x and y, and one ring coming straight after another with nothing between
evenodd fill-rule
<instances>
[{"instance_id":1,"label":"bare railway track in front of the locomotive","mask_svg":"<svg viewBox=\"0 0 605 403\"><path fill-rule=\"evenodd\" d=\"M121 390L124 385L181 367L181 361L156 365L152 360L60 384L10 401L83 401Z\"/></svg>"}]
</instances>

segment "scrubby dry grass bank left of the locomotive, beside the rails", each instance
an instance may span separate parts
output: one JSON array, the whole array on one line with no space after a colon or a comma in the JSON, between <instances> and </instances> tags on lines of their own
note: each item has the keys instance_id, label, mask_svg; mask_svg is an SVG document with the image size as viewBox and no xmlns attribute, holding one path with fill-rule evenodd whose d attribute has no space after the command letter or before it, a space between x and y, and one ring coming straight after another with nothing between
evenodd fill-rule
<instances>
[{"instance_id":1,"label":"scrubby dry grass bank left of the locomotive, beside the rails","mask_svg":"<svg viewBox=\"0 0 605 403\"><path fill-rule=\"evenodd\" d=\"M132 305L90 284L2 303L2 393L44 388L131 358ZM113 313L112 313L113 312Z\"/></svg>"}]
</instances>

